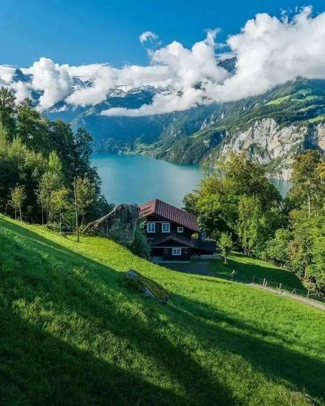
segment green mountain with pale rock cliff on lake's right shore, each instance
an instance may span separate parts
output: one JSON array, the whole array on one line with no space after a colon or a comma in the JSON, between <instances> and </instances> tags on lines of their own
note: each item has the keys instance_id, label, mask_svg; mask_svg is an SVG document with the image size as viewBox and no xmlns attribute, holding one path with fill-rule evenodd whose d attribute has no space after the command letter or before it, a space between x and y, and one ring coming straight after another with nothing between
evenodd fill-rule
<instances>
[{"instance_id":1,"label":"green mountain with pale rock cliff on lake's right shore","mask_svg":"<svg viewBox=\"0 0 325 406\"><path fill-rule=\"evenodd\" d=\"M200 130L163 134L148 150L177 163L245 150L270 177L289 179L293 154L308 148L325 151L325 81L298 78L257 97L215 105Z\"/></svg>"}]
</instances>

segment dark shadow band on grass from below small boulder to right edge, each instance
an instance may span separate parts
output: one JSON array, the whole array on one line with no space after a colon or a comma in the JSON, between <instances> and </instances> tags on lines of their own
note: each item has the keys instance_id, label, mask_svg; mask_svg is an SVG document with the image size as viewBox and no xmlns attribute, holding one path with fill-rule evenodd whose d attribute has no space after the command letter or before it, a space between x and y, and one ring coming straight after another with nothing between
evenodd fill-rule
<instances>
[{"instance_id":1,"label":"dark shadow band on grass from below small boulder to right edge","mask_svg":"<svg viewBox=\"0 0 325 406\"><path fill-rule=\"evenodd\" d=\"M178 296L176 300L178 305L173 306L172 311L180 316L179 319L187 319L197 338L202 339L200 342L206 350L215 347L241 355L272 381L284 379L290 383L291 390L306 390L312 396L325 398L325 362L285 348L294 347L294 339L258 329L184 296ZM283 345L275 344L275 340L281 341Z\"/></svg>"}]
</instances>

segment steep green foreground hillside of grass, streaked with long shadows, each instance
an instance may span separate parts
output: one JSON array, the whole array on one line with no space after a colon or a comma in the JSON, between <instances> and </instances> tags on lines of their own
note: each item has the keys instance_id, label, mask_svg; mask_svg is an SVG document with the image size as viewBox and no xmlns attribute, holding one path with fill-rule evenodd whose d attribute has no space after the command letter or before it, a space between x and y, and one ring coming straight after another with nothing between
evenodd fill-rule
<instances>
[{"instance_id":1,"label":"steep green foreground hillside of grass, streaked with long shadows","mask_svg":"<svg viewBox=\"0 0 325 406\"><path fill-rule=\"evenodd\" d=\"M99 237L0 219L1 405L307 405L325 397L325 314L165 270ZM168 305L126 289L133 267Z\"/></svg>"}]
</instances>

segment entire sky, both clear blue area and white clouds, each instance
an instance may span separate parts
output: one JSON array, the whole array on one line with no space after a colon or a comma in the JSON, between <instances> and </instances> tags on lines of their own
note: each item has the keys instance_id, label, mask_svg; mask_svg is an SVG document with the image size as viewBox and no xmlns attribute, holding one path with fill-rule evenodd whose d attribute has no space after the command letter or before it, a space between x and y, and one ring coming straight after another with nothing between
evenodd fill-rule
<instances>
[{"instance_id":1,"label":"entire sky, both clear blue area and white clouds","mask_svg":"<svg viewBox=\"0 0 325 406\"><path fill-rule=\"evenodd\" d=\"M151 104L101 112L134 117L243 99L299 76L325 79L322 2L0 0L0 86L17 101L38 93L41 111L156 88ZM218 60L232 56L230 73ZM30 79L17 82L14 67Z\"/></svg>"}]
</instances>

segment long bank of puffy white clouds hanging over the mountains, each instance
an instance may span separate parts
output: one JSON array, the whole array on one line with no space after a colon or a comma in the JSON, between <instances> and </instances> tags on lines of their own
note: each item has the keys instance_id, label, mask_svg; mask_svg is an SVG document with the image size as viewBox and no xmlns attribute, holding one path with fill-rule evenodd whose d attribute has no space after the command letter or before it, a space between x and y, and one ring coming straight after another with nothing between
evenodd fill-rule
<instances>
[{"instance_id":1,"label":"long bank of puffy white clouds hanging over the mountains","mask_svg":"<svg viewBox=\"0 0 325 406\"><path fill-rule=\"evenodd\" d=\"M115 88L153 86L163 88L137 109L108 108L102 115L154 115L215 101L233 101L264 93L298 76L325 79L325 12L313 16L306 7L280 18L257 14L238 34L228 37L227 51L237 57L230 74L218 64L217 30L210 30L204 40L190 49L173 41L157 47L158 36L143 32L141 43L152 44L149 65L122 68L109 64L69 66L40 58L32 67L22 69L32 75L29 82L14 80L12 67L0 67L0 85L10 86L17 98L40 93L38 108L46 110L59 101L71 106L93 106L106 100ZM155 43L155 46L154 46Z\"/></svg>"}]
</instances>

